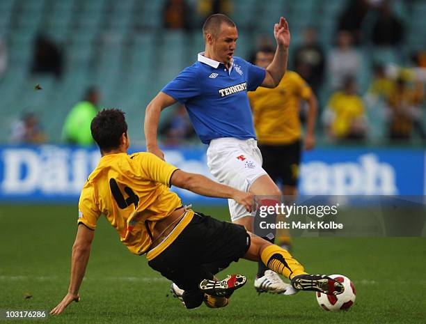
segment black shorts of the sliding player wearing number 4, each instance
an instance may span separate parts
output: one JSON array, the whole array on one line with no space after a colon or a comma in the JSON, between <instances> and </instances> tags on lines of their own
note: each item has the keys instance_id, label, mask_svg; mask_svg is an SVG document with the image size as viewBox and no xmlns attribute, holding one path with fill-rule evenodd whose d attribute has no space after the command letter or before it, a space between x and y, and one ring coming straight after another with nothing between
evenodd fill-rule
<instances>
[{"instance_id":1,"label":"black shorts of the sliding player wearing number 4","mask_svg":"<svg viewBox=\"0 0 426 324\"><path fill-rule=\"evenodd\" d=\"M203 302L198 285L203 279L213 279L209 264L225 268L242 258L248 247L250 236L244 226L196 213L178 238L148 265L183 289L187 308L194 308Z\"/></svg>"}]
</instances>

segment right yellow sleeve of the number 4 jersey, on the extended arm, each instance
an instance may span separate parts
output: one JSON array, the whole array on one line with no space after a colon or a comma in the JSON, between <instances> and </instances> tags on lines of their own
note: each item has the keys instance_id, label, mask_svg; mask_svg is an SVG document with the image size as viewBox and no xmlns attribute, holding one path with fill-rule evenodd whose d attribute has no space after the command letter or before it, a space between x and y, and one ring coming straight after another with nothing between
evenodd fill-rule
<instances>
[{"instance_id":1,"label":"right yellow sleeve of the number 4 jersey, on the extended arm","mask_svg":"<svg viewBox=\"0 0 426 324\"><path fill-rule=\"evenodd\" d=\"M170 179L173 172L178 170L172 164L168 164L161 160L157 155L152 153L138 153L136 158L132 159L139 163L141 167L141 175L148 180L162 183L163 185L171 186Z\"/></svg>"}]
</instances>

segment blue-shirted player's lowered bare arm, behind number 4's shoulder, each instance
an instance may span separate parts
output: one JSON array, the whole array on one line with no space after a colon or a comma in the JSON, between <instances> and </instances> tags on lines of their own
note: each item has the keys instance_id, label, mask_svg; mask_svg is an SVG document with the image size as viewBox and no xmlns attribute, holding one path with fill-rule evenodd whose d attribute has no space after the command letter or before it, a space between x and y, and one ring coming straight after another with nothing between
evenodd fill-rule
<instances>
[{"instance_id":1,"label":"blue-shirted player's lowered bare arm, behind number 4's shoulder","mask_svg":"<svg viewBox=\"0 0 426 324\"><path fill-rule=\"evenodd\" d=\"M146 149L148 152L157 155L161 160L164 160L164 153L159 149L157 144L157 130L159 124L159 116L161 110L173 105L176 102L170 95L164 92L159 92L154 99L146 107L145 123L143 129L145 131Z\"/></svg>"}]
</instances>

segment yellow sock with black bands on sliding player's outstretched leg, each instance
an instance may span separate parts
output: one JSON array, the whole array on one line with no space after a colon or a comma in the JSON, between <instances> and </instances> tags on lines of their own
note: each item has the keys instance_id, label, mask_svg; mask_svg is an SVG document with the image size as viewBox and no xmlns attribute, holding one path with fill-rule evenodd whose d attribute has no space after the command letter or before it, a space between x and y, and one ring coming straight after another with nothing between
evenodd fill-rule
<instances>
[{"instance_id":1,"label":"yellow sock with black bands on sliding player's outstretched leg","mask_svg":"<svg viewBox=\"0 0 426 324\"><path fill-rule=\"evenodd\" d=\"M297 275L306 275L303 265L278 245L269 245L262 251L260 257L269 269L289 279Z\"/></svg>"}]
</instances>

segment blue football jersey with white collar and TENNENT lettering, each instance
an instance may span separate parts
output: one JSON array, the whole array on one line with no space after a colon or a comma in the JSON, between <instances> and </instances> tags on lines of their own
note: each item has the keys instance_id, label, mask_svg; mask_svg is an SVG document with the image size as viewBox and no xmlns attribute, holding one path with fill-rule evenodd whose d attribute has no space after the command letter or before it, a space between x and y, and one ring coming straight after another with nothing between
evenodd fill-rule
<instances>
[{"instance_id":1,"label":"blue football jersey with white collar and TENNENT lettering","mask_svg":"<svg viewBox=\"0 0 426 324\"><path fill-rule=\"evenodd\" d=\"M185 68L161 91L181 102L204 144L212 139L255 139L247 91L265 79L265 69L234 57L229 70L198 54L198 61Z\"/></svg>"}]
</instances>

